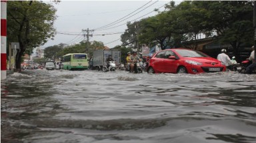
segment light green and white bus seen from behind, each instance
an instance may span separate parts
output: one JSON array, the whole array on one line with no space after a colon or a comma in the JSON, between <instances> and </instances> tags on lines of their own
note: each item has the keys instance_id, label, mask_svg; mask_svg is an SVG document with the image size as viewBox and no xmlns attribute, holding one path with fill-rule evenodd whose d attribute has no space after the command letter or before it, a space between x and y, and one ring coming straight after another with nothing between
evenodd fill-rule
<instances>
[{"instance_id":1,"label":"light green and white bus seen from behind","mask_svg":"<svg viewBox=\"0 0 256 143\"><path fill-rule=\"evenodd\" d=\"M88 59L85 53L70 53L62 57L63 69L85 70L88 69Z\"/></svg>"}]
</instances>

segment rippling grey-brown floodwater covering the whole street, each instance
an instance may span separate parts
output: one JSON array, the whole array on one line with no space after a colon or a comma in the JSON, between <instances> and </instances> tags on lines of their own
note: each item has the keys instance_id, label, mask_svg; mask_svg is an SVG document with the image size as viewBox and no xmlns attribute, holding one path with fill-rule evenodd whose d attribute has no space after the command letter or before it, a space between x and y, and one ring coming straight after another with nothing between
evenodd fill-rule
<instances>
[{"instance_id":1,"label":"rippling grey-brown floodwater covering the whole street","mask_svg":"<svg viewBox=\"0 0 256 143\"><path fill-rule=\"evenodd\" d=\"M256 74L9 74L1 141L256 142Z\"/></svg>"}]
</instances>

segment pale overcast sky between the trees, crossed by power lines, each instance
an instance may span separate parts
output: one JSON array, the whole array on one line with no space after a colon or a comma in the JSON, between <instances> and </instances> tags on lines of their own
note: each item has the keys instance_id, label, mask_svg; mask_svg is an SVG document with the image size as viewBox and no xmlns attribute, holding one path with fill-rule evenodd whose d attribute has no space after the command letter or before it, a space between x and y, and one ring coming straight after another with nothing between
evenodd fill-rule
<instances>
[{"instance_id":1,"label":"pale overcast sky between the trees, crossed by power lines","mask_svg":"<svg viewBox=\"0 0 256 143\"><path fill-rule=\"evenodd\" d=\"M133 23L157 15L154 9L161 7L159 10L163 11L166 3L169 1L61 1L54 4L58 16L54 24L57 35L41 48L87 40L83 37L83 29L95 29L89 33L93 35L89 41L101 41L113 48L121 45L121 34L127 29L128 21Z\"/></svg>"}]
</instances>

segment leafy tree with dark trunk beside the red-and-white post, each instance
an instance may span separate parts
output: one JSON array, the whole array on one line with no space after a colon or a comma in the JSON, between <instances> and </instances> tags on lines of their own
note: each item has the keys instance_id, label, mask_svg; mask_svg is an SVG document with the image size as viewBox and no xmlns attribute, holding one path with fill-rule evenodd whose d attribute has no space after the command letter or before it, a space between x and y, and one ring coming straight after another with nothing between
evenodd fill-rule
<instances>
[{"instance_id":1,"label":"leafy tree with dark trunk beside the red-and-white post","mask_svg":"<svg viewBox=\"0 0 256 143\"><path fill-rule=\"evenodd\" d=\"M21 57L31 54L35 47L43 45L55 35L53 22L56 9L42 1L8 1L7 41L19 42L16 69L21 69Z\"/></svg>"}]
</instances>

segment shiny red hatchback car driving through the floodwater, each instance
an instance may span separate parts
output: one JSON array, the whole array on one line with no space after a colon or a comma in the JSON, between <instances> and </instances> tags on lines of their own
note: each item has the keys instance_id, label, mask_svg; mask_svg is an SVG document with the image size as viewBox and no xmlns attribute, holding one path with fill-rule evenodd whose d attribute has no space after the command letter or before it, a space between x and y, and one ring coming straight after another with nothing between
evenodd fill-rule
<instances>
[{"instance_id":1,"label":"shiny red hatchback car driving through the floodwater","mask_svg":"<svg viewBox=\"0 0 256 143\"><path fill-rule=\"evenodd\" d=\"M159 51L149 60L148 73L190 73L226 71L220 61L199 51L167 49Z\"/></svg>"}]
</instances>

